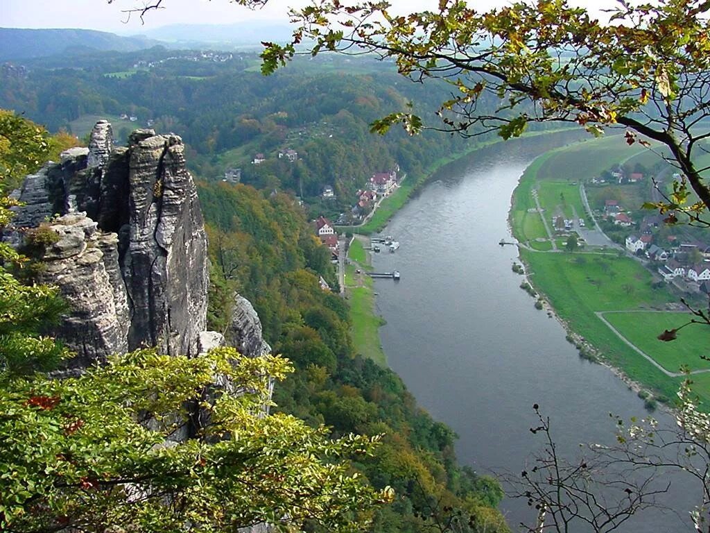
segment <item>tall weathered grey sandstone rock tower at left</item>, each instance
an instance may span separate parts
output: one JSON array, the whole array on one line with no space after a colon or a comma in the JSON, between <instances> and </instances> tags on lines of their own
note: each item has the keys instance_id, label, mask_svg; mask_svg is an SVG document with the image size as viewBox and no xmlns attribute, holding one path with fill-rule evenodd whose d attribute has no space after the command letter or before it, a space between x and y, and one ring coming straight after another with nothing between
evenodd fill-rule
<instances>
[{"instance_id":1,"label":"tall weathered grey sandstone rock tower at left","mask_svg":"<svg viewBox=\"0 0 710 533\"><path fill-rule=\"evenodd\" d=\"M70 305L53 332L77 352L70 367L142 345L198 355L207 237L180 137L137 130L116 147L111 125L99 122L89 149L65 152L15 195L26 205L4 239L19 244L22 228L45 220L59 235L40 281Z\"/></svg>"}]
</instances>

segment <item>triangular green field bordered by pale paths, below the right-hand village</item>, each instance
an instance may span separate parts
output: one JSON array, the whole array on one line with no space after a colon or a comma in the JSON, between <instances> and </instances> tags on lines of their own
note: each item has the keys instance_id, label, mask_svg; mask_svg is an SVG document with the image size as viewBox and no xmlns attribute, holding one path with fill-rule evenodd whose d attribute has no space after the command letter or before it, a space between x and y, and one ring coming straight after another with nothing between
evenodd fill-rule
<instances>
[{"instance_id":1,"label":"triangular green field bordered by pale paths, below the right-hand village","mask_svg":"<svg viewBox=\"0 0 710 533\"><path fill-rule=\"evenodd\" d=\"M700 358L710 355L708 328L689 325L678 332L677 340L670 343L656 338L663 330L679 328L690 321L692 315L689 313L605 313L604 318L636 348L653 357L669 372L678 372L682 365L687 365L690 370L710 368L710 361Z\"/></svg>"}]
</instances>

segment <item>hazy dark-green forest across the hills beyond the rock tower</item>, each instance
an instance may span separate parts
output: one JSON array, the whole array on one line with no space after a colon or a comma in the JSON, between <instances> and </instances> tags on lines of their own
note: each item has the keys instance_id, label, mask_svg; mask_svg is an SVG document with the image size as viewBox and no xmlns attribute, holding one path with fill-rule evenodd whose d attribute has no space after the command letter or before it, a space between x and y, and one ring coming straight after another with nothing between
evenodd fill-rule
<instances>
[{"instance_id":1,"label":"hazy dark-green forest across the hills beyond the rock tower","mask_svg":"<svg viewBox=\"0 0 710 533\"><path fill-rule=\"evenodd\" d=\"M292 67L264 77L256 54L162 47L26 60L0 72L0 107L78 136L101 117L119 141L136 127L173 131L198 177L219 180L241 168L242 183L299 195L311 215L344 212L373 173L399 166L417 175L466 147L465 139L437 131L370 133L374 120L409 104L433 117L432 102L449 93L445 84L407 82L368 58L297 58ZM278 158L283 149L297 151L298 160ZM251 164L259 153L266 161ZM326 185L335 198L323 201Z\"/></svg>"}]
</instances>

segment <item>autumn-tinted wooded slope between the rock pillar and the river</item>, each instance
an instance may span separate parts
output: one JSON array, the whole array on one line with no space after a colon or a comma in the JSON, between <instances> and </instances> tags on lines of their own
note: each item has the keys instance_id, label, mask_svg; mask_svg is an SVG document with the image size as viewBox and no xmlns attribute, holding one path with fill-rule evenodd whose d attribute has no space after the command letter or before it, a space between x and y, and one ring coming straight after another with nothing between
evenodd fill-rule
<instances>
[{"instance_id":1,"label":"autumn-tinted wooded slope between the rock pillar and the river","mask_svg":"<svg viewBox=\"0 0 710 533\"><path fill-rule=\"evenodd\" d=\"M452 430L417 407L394 372L354 353L346 301L319 285L319 275L332 275L329 253L302 208L245 185L203 184L200 198L213 263L212 327L226 326L238 289L256 307L266 340L295 365L275 389L278 409L327 424L333 436L384 434L375 456L358 465L370 483L397 494L376 510L373 531L423 532L459 510L461 531L508 531L495 509L503 496L497 482L457 465Z\"/></svg>"}]
</instances>

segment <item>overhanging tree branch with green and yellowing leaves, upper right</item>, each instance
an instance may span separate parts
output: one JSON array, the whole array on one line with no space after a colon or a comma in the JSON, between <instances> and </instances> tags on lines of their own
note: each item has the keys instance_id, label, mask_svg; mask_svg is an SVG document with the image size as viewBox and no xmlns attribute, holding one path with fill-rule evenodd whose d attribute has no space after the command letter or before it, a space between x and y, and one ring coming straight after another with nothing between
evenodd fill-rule
<instances>
[{"instance_id":1,"label":"overhanging tree branch with green and yellowing leaves, upper right","mask_svg":"<svg viewBox=\"0 0 710 533\"><path fill-rule=\"evenodd\" d=\"M391 7L325 0L293 10L292 43L264 43L266 70L285 64L301 42L312 55L371 53L393 61L410 80L448 84L439 127L464 135L498 131L508 139L530 122L559 121L601 136L606 126L621 124L629 145L649 146L640 136L665 145L699 197L684 205L681 181L659 208L680 206L690 220L710 208L710 188L694 160L705 138L694 126L708 117L702 87L710 23L703 0L621 1L606 10L607 21L567 0L515 1L489 11L442 0L438 9L405 15ZM386 114L373 129L396 122L408 133L422 129L409 109Z\"/></svg>"}]
</instances>

